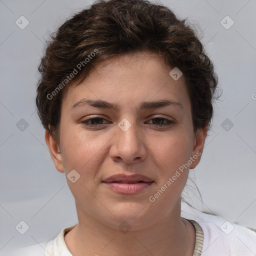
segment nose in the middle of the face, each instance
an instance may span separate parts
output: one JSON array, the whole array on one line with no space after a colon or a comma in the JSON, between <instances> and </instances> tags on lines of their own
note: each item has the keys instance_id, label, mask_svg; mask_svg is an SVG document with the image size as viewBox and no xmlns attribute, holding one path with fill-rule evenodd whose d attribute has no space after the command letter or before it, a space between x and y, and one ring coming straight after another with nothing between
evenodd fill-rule
<instances>
[{"instance_id":1,"label":"nose in the middle of the face","mask_svg":"<svg viewBox=\"0 0 256 256\"><path fill-rule=\"evenodd\" d=\"M122 128L123 123L116 126L116 135L113 137L109 155L114 161L132 163L142 161L147 156L145 136L135 122L124 123L128 128Z\"/></svg>"}]
</instances>

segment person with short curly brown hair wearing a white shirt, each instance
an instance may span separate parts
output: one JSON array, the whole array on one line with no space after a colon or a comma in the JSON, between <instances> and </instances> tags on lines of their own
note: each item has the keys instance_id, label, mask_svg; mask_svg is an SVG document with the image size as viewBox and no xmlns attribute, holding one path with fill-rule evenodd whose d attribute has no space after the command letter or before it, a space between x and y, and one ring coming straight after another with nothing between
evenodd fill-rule
<instances>
[{"instance_id":1,"label":"person with short curly brown hair wearing a white shirt","mask_svg":"<svg viewBox=\"0 0 256 256\"><path fill-rule=\"evenodd\" d=\"M248 228L180 216L217 86L185 20L149 1L99 0L58 28L39 71L38 115L78 216L45 255L256 253Z\"/></svg>"}]
</instances>

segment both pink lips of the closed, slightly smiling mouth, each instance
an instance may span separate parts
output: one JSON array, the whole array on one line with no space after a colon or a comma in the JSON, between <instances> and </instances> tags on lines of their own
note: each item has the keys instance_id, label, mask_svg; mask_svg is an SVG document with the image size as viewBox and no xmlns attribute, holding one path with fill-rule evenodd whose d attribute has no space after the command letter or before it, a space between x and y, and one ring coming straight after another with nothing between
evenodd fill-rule
<instances>
[{"instance_id":1,"label":"both pink lips of the closed, slightly smiling mouth","mask_svg":"<svg viewBox=\"0 0 256 256\"><path fill-rule=\"evenodd\" d=\"M102 182L116 193L134 194L149 187L153 180L141 174L115 174L104 179Z\"/></svg>"}]
</instances>

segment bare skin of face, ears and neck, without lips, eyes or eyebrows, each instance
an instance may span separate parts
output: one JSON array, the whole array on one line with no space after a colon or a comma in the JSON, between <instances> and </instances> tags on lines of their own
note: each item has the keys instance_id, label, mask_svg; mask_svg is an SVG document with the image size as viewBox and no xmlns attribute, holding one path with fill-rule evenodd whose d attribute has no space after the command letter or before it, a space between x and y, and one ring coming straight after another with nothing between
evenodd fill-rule
<instances>
[{"instance_id":1,"label":"bare skin of face, ears and neck, without lips, eyes or eyebrows","mask_svg":"<svg viewBox=\"0 0 256 256\"><path fill-rule=\"evenodd\" d=\"M180 217L181 192L189 168L157 198L160 187L190 157L203 150L207 127L193 133L191 108L185 79L172 79L172 67L152 52L118 55L104 60L80 84L65 91L61 104L60 143L45 131L45 141L58 171L75 169L80 177L67 178L74 196L78 224L64 240L74 256L79 255L186 255L192 256L195 230ZM82 98L119 104L120 110L72 105ZM175 105L142 109L141 101L171 99ZM71 109L71 110L70 110ZM96 128L81 123L94 120ZM164 119L174 124L161 127ZM131 126L123 131L118 123L126 118ZM158 126L157 126L158 125ZM200 156L190 164L194 168ZM154 182L132 195L110 190L102 180L113 174L139 173ZM130 230L119 225L126 221ZM86 254L84 254L86 253Z\"/></svg>"}]
</instances>

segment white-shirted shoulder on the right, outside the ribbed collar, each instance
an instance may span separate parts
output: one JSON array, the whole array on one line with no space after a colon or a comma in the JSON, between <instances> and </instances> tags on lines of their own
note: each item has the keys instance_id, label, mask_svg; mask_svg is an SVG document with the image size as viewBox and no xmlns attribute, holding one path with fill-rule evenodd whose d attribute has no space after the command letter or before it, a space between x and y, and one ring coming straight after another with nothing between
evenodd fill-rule
<instances>
[{"instance_id":1,"label":"white-shirted shoulder on the right, outside the ribbed collar","mask_svg":"<svg viewBox=\"0 0 256 256\"><path fill-rule=\"evenodd\" d=\"M256 255L256 232L253 228L198 210L184 215L187 219L195 220L202 228L203 255Z\"/></svg>"}]
</instances>

